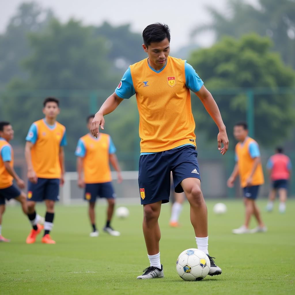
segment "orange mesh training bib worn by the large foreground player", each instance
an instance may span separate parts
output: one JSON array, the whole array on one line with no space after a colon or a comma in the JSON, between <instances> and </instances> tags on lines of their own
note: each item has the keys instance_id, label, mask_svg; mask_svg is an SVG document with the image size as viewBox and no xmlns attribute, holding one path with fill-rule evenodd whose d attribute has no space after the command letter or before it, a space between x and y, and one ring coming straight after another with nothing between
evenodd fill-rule
<instances>
[{"instance_id":1,"label":"orange mesh training bib worn by the large foreground player","mask_svg":"<svg viewBox=\"0 0 295 295\"><path fill-rule=\"evenodd\" d=\"M150 68L148 59L130 66L140 116L141 153L161 152L185 144L196 146L185 64L185 60L168 56L160 72ZM121 86L122 81L116 93Z\"/></svg>"}]
</instances>

